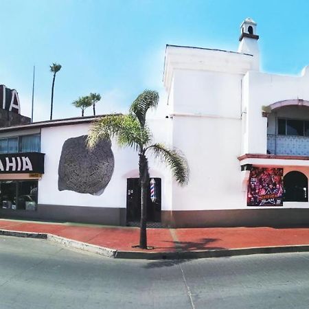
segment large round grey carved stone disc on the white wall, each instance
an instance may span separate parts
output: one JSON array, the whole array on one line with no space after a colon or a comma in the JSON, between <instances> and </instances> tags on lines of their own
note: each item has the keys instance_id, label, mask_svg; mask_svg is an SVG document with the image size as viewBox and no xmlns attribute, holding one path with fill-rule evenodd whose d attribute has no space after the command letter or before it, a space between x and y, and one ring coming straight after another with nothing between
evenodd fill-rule
<instances>
[{"instance_id":1,"label":"large round grey carved stone disc on the white wall","mask_svg":"<svg viewBox=\"0 0 309 309\"><path fill-rule=\"evenodd\" d=\"M104 139L93 150L87 135L67 139L62 146L58 168L58 190L101 195L113 175L111 141Z\"/></svg>"}]
</instances>

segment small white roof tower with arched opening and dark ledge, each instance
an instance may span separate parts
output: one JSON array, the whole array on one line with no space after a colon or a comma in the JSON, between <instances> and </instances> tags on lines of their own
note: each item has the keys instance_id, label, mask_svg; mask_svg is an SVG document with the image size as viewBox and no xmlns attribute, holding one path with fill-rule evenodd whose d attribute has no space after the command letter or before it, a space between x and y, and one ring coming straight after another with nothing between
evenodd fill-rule
<instances>
[{"instance_id":1,"label":"small white roof tower with arched opening and dark ledge","mask_svg":"<svg viewBox=\"0 0 309 309\"><path fill-rule=\"evenodd\" d=\"M245 19L240 25L240 38L238 52L253 55L254 70L260 69L259 36L256 34L257 23L251 18Z\"/></svg>"}]
</instances>

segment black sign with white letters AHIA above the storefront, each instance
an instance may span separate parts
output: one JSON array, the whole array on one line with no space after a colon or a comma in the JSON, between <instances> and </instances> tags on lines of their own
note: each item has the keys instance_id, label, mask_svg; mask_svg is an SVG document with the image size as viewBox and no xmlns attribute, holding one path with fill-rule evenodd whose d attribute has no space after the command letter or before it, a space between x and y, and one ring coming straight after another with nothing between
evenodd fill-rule
<instances>
[{"instance_id":1,"label":"black sign with white letters AHIA above the storefront","mask_svg":"<svg viewBox=\"0 0 309 309\"><path fill-rule=\"evenodd\" d=\"M22 152L0 155L0 174L44 174L44 153Z\"/></svg>"}]
</instances>

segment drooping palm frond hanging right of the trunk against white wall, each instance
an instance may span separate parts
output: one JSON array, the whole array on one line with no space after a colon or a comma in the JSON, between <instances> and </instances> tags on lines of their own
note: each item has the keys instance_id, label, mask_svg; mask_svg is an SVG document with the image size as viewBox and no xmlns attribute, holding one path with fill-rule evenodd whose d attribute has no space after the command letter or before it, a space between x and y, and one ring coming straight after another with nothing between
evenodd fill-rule
<instances>
[{"instance_id":1,"label":"drooping palm frond hanging right of the trunk against white wall","mask_svg":"<svg viewBox=\"0 0 309 309\"><path fill-rule=\"evenodd\" d=\"M189 181L189 166L187 165L187 160L179 150L169 149L163 144L151 145L146 148L147 150L152 151L155 157L161 158L163 163L166 163L170 167L178 183L181 185L187 184Z\"/></svg>"}]
</instances>

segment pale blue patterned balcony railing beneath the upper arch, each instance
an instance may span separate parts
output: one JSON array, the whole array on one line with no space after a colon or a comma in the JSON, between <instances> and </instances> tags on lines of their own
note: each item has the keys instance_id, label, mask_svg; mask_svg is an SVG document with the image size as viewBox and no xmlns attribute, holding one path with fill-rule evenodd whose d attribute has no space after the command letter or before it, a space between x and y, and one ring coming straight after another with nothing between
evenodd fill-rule
<instances>
[{"instance_id":1,"label":"pale blue patterned balcony railing beneath the upper arch","mask_svg":"<svg viewBox=\"0 0 309 309\"><path fill-rule=\"evenodd\" d=\"M271 155L309 156L309 137L268 134L267 153Z\"/></svg>"}]
</instances>

